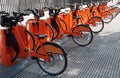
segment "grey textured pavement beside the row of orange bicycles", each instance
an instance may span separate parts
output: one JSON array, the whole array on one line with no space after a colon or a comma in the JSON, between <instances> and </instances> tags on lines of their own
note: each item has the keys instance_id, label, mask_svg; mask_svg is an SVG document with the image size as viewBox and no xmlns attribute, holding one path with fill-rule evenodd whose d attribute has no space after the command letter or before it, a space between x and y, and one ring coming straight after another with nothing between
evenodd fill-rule
<instances>
[{"instance_id":1,"label":"grey textured pavement beside the row of orange bicycles","mask_svg":"<svg viewBox=\"0 0 120 78\"><path fill-rule=\"evenodd\" d=\"M0 65L0 78L120 78L119 21L120 14L105 24L101 33L94 34L93 42L86 47L77 46L71 39L62 44L68 54L68 67L59 76L47 75L35 61L20 59L11 67Z\"/></svg>"}]
</instances>

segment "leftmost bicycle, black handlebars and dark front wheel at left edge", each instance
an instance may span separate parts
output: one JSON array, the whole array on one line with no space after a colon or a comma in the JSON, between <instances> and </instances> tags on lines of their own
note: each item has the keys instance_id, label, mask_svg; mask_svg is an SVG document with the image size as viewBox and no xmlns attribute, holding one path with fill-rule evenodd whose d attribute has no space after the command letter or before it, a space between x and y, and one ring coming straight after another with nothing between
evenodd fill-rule
<instances>
[{"instance_id":1,"label":"leftmost bicycle, black handlebars and dark front wheel at left edge","mask_svg":"<svg viewBox=\"0 0 120 78\"><path fill-rule=\"evenodd\" d=\"M20 47L15 35L12 32L14 18L9 16L9 13L5 11L0 12L1 26L7 27L5 29L6 35L6 49L9 49L11 46L14 49L13 54L11 54L11 62L14 62L20 53Z\"/></svg>"}]
</instances>

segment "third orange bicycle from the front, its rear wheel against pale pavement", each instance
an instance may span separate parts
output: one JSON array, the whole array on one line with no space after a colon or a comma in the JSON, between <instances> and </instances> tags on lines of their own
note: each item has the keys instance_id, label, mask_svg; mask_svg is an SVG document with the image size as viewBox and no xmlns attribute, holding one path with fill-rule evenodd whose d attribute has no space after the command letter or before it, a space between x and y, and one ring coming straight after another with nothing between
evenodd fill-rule
<instances>
[{"instance_id":1,"label":"third orange bicycle from the front, its rear wheel against pale pavement","mask_svg":"<svg viewBox=\"0 0 120 78\"><path fill-rule=\"evenodd\" d=\"M87 24L92 29L94 33L99 33L104 28L104 22L101 17L93 16L90 11L90 7L82 8L81 4L76 4L76 15L80 16L79 22L82 24Z\"/></svg>"}]
</instances>

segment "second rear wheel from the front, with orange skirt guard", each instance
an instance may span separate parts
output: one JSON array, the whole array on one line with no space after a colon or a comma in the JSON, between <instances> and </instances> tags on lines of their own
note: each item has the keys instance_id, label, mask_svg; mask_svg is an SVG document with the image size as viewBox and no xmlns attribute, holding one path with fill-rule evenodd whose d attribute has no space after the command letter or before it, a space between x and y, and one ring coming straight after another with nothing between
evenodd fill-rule
<instances>
[{"instance_id":1,"label":"second rear wheel from the front, with orange skirt guard","mask_svg":"<svg viewBox=\"0 0 120 78\"><path fill-rule=\"evenodd\" d=\"M82 37L74 36L74 35L72 36L73 41L79 46L87 46L93 40L92 30L87 25L78 25L73 28L72 32L82 34ZM90 37L87 34L89 34ZM89 40L88 39L85 40L86 38L84 36L88 37ZM80 40L82 40L82 41L80 41ZM83 42L83 41L85 41L85 42Z\"/></svg>"}]
</instances>

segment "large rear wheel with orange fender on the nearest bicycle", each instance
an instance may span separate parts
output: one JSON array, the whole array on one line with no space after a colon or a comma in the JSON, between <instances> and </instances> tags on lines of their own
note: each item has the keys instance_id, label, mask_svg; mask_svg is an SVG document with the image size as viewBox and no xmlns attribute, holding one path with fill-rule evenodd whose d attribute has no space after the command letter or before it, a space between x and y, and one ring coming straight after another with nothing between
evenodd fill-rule
<instances>
[{"instance_id":1,"label":"large rear wheel with orange fender on the nearest bicycle","mask_svg":"<svg viewBox=\"0 0 120 78\"><path fill-rule=\"evenodd\" d=\"M49 75L59 75L64 72L67 67L67 56L64 49L60 45L53 42L45 42L42 46L47 51L51 62L48 62L42 58L37 58L39 67ZM58 50L60 54L55 52L56 50ZM40 46L37 48L36 53L41 53Z\"/></svg>"}]
</instances>

